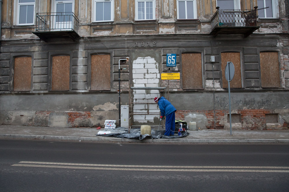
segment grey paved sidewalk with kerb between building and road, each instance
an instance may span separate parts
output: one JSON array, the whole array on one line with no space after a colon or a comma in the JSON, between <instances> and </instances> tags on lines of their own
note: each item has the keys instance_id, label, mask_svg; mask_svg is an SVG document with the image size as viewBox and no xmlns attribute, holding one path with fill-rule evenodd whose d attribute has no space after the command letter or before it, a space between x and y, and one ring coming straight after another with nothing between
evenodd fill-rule
<instances>
[{"instance_id":1,"label":"grey paved sidewalk with kerb between building and road","mask_svg":"<svg viewBox=\"0 0 289 192\"><path fill-rule=\"evenodd\" d=\"M127 139L96 136L96 128L0 126L0 138L153 143L289 143L289 130L188 130L176 139Z\"/></svg>"}]
</instances>

